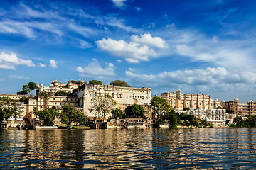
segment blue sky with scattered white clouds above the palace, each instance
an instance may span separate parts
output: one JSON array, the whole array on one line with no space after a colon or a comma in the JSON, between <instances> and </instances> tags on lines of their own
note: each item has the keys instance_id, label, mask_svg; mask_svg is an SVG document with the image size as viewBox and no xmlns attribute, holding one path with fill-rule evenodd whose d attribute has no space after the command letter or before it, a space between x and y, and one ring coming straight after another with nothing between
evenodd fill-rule
<instances>
[{"instance_id":1,"label":"blue sky with scattered white clouds above the palace","mask_svg":"<svg viewBox=\"0 0 256 170\"><path fill-rule=\"evenodd\" d=\"M57 79L121 79L256 100L256 1L3 1L0 93Z\"/></svg>"}]
</instances>

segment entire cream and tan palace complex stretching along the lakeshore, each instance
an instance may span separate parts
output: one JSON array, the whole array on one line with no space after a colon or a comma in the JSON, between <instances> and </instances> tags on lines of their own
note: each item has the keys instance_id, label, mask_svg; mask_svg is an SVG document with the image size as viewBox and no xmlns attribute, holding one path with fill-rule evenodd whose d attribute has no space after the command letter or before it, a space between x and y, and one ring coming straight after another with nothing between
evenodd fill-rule
<instances>
[{"instance_id":1,"label":"entire cream and tan palace complex stretching along the lakeshore","mask_svg":"<svg viewBox=\"0 0 256 170\"><path fill-rule=\"evenodd\" d=\"M68 96L54 96L58 91L68 92ZM40 96L41 92L47 92L45 96ZM43 111L47 108L61 108L61 106L71 104L79 109L88 118L93 119L97 115L92 108L92 98L100 95L109 95L117 103L117 108L124 111L127 106L132 104L139 104L145 108L145 115L147 118L151 118L151 111L149 109L149 103L151 101L151 88L142 87L123 87L114 85L97 85L86 84L85 81L68 81L68 84L58 83L54 80L50 86L43 86L39 84L36 88L36 96L26 96L29 98L28 104L17 102L24 95L10 95L1 94L0 97L5 96L11 98L18 106L17 118L11 118L10 120L15 122L20 120L26 125L35 125L38 118L33 114L33 108L38 108L38 111ZM218 99L213 101L210 95L207 94L182 94L181 90L176 92L165 92L161 94L161 98L166 99L171 108L174 108L176 112L186 112L190 115L195 115L197 118L206 119L208 122L215 125L223 125L226 120L232 123L233 118L236 115L256 115L256 102L248 101L247 103L239 103L238 98L234 101L221 101L221 106L227 109L219 109L220 102ZM182 111L183 108L190 108L190 111ZM106 116L109 118L111 113ZM21 120L21 118L23 120ZM15 121L14 121L15 120ZM119 122L122 124L122 121ZM128 126L145 125L150 127L154 121L146 120L125 120ZM134 123L135 121L135 123ZM59 120L55 123L58 125ZM129 125L129 123L131 125ZM14 123L15 124L15 123ZM121 125L120 124L120 125ZM118 125L117 125L118 126Z\"/></svg>"}]
</instances>

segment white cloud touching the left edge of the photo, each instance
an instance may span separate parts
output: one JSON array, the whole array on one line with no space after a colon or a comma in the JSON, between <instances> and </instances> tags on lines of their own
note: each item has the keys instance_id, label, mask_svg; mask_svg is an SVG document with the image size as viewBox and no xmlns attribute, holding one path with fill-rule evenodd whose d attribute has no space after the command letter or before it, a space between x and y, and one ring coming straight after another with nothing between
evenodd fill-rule
<instances>
[{"instance_id":1,"label":"white cloud touching the left edge of the photo","mask_svg":"<svg viewBox=\"0 0 256 170\"><path fill-rule=\"evenodd\" d=\"M0 53L0 68L1 69L15 69L16 65L26 65L28 67L35 67L36 65L31 60L23 60L18 58L16 54L11 55L1 52Z\"/></svg>"}]
</instances>

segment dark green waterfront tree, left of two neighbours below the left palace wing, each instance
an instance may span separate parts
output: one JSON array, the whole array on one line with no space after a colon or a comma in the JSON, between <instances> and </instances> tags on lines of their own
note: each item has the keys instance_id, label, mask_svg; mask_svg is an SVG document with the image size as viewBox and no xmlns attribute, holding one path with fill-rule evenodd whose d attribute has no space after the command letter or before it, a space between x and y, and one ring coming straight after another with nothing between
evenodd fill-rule
<instances>
[{"instance_id":1,"label":"dark green waterfront tree, left of two neighbours below the left palace wing","mask_svg":"<svg viewBox=\"0 0 256 170\"><path fill-rule=\"evenodd\" d=\"M33 108L33 113L38 116L43 125L53 125L53 120L58 117L59 113L56 109L48 108L44 111L38 111L38 108Z\"/></svg>"}]
</instances>

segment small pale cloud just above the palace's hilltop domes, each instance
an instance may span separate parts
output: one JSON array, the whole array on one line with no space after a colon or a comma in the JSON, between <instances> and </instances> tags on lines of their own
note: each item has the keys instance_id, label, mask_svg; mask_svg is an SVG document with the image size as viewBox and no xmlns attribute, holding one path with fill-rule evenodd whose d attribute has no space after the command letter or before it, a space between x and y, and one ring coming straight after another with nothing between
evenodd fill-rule
<instances>
[{"instance_id":1,"label":"small pale cloud just above the palace's hilltop domes","mask_svg":"<svg viewBox=\"0 0 256 170\"><path fill-rule=\"evenodd\" d=\"M80 67L76 68L76 71L79 72L80 77L91 77L102 79L105 76L114 76L114 64L106 63L106 67L100 66L100 63L97 60L91 62L87 65L87 67Z\"/></svg>"}]
</instances>

